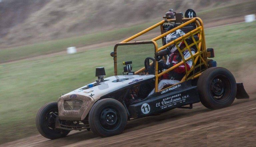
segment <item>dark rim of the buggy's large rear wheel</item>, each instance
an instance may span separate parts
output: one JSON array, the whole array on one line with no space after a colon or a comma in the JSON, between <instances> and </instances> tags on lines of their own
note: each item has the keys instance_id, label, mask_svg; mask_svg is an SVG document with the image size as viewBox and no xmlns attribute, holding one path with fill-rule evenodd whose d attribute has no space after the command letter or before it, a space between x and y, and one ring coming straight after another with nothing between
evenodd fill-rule
<instances>
[{"instance_id":1,"label":"dark rim of the buggy's large rear wheel","mask_svg":"<svg viewBox=\"0 0 256 147\"><path fill-rule=\"evenodd\" d=\"M219 102L224 102L231 94L231 84L226 76L218 75L210 82L211 95Z\"/></svg>"}]
</instances>

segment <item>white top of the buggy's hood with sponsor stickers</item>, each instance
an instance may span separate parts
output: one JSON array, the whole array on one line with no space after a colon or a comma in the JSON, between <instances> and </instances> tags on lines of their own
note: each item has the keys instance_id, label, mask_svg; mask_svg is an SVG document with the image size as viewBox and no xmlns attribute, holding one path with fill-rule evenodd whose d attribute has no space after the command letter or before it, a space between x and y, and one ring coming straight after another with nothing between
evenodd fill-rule
<instances>
[{"instance_id":1,"label":"white top of the buggy's hood with sponsor stickers","mask_svg":"<svg viewBox=\"0 0 256 147\"><path fill-rule=\"evenodd\" d=\"M118 89L121 89L123 87L129 86L131 84L137 83L139 81L144 81L150 78L155 77L155 75L120 75L120 76L111 76L108 78L104 78L104 82L101 82L100 85L94 86L92 88L88 88L85 90L82 90L83 88L86 88L86 86L80 87L72 92L69 92L65 95L71 95L71 94L78 94L78 95L84 95L87 97L92 97L95 101L97 101L101 96L104 96L110 92L116 91ZM120 82L113 82L115 80L120 79L127 79ZM96 83L96 82L94 82ZM91 83L91 84L94 84ZM64 95L64 96L65 96Z\"/></svg>"}]
</instances>

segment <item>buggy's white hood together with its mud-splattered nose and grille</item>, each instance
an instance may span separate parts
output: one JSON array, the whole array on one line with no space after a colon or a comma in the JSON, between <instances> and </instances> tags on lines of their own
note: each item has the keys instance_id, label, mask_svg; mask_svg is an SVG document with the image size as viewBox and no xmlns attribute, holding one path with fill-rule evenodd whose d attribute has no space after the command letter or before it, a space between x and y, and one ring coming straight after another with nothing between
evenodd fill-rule
<instances>
[{"instance_id":1,"label":"buggy's white hood together with its mud-splattered nose and grille","mask_svg":"<svg viewBox=\"0 0 256 147\"><path fill-rule=\"evenodd\" d=\"M91 88L88 88L87 85L78 88L58 99L59 117L61 120L83 120L93 104L102 96L154 77L154 75L111 76Z\"/></svg>"}]
</instances>

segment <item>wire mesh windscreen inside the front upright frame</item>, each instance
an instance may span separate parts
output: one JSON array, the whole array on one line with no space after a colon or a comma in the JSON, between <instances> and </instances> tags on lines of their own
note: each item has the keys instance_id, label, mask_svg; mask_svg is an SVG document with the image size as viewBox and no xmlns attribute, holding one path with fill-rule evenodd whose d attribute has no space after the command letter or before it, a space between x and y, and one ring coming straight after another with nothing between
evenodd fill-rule
<instances>
[{"instance_id":1,"label":"wire mesh windscreen inside the front upright frame","mask_svg":"<svg viewBox=\"0 0 256 147\"><path fill-rule=\"evenodd\" d=\"M117 75L123 75L123 62L132 61L132 71L136 72L144 67L144 60L147 57L154 58L155 46L152 42L133 42L134 44L121 44L116 47L116 68Z\"/></svg>"}]
</instances>

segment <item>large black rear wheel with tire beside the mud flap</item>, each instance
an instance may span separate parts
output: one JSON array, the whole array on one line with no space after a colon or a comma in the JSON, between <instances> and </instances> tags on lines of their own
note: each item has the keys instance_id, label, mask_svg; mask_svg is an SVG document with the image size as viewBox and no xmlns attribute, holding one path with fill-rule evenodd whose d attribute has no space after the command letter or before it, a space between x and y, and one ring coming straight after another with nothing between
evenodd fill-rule
<instances>
[{"instance_id":1,"label":"large black rear wheel with tire beside the mud flap","mask_svg":"<svg viewBox=\"0 0 256 147\"><path fill-rule=\"evenodd\" d=\"M236 80L232 73L223 67L205 70L197 82L201 103L209 109L230 106L236 96Z\"/></svg>"}]
</instances>

